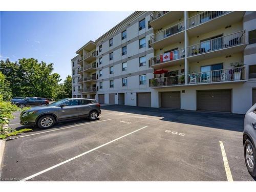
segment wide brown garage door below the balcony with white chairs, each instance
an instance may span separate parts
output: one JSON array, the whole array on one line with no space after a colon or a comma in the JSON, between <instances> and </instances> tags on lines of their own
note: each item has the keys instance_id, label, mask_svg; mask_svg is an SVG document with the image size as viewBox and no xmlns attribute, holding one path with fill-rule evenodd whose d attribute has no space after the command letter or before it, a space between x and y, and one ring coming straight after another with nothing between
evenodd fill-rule
<instances>
[{"instance_id":1,"label":"wide brown garage door below the balcony with white chairs","mask_svg":"<svg viewBox=\"0 0 256 192\"><path fill-rule=\"evenodd\" d=\"M197 109L231 112L231 90L198 91Z\"/></svg>"}]
</instances>

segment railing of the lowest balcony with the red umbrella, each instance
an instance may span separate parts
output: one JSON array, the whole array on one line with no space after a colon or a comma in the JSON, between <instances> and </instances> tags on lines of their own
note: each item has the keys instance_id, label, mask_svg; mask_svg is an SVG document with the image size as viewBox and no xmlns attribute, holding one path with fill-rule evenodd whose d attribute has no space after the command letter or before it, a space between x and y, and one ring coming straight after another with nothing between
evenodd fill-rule
<instances>
[{"instance_id":1,"label":"railing of the lowest balcony with the red umbrella","mask_svg":"<svg viewBox=\"0 0 256 192\"><path fill-rule=\"evenodd\" d=\"M178 86L185 84L185 75L151 79L151 87Z\"/></svg>"}]
</instances>

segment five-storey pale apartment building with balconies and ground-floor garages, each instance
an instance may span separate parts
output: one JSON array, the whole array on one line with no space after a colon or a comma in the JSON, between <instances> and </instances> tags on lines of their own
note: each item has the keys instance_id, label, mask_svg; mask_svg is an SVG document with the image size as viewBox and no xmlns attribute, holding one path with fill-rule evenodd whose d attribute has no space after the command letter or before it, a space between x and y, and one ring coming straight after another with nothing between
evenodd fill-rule
<instances>
[{"instance_id":1,"label":"five-storey pale apartment building with balconies and ground-floor garages","mask_svg":"<svg viewBox=\"0 0 256 192\"><path fill-rule=\"evenodd\" d=\"M256 102L256 12L136 11L76 53L96 63L81 78L96 76L100 103L244 114Z\"/></svg>"}]
</instances>

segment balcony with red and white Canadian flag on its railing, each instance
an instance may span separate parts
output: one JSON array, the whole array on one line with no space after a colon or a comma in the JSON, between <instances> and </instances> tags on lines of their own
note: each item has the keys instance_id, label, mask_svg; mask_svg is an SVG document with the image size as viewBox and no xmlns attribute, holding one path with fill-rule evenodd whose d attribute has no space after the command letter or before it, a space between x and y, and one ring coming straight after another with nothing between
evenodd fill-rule
<instances>
[{"instance_id":1,"label":"balcony with red and white Canadian flag on its railing","mask_svg":"<svg viewBox=\"0 0 256 192\"><path fill-rule=\"evenodd\" d=\"M162 69L164 67L171 67L181 65L184 63L185 50L179 49L176 51L164 53L151 58L151 66L154 69Z\"/></svg>"}]
</instances>

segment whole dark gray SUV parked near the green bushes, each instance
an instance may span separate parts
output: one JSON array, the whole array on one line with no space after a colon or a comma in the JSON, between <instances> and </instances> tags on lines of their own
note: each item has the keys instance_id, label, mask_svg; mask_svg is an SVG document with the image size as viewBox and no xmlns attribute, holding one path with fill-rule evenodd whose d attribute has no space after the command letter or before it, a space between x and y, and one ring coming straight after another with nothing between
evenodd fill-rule
<instances>
[{"instance_id":1,"label":"whole dark gray SUV parked near the green bushes","mask_svg":"<svg viewBox=\"0 0 256 192\"><path fill-rule=\"evenodd\" d=\"M40 129L49 128L56 122L89 117L95 120L101 113L100 104L94 99L61 99L48 104L37 106L20 114L20 124L38 126Z\"/></svg>"}]
</instances>

